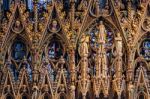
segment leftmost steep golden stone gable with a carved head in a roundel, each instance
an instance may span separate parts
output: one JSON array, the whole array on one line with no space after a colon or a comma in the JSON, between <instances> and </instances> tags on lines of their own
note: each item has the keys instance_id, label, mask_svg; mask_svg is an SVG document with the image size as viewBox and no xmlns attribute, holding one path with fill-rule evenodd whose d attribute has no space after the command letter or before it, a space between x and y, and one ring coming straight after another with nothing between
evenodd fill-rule
<instances>
[{"instance_id":1,"label":"leftmost steep golden stone gable with a carved head in a roundel","mask_svg":"<svg viewBox=\"0 0 150 99\"><path fill-rule=\"evenodd\" d=\"M25 23L21 19L22 15L19 10L20 8L18 5L16 5L14 9L15 10L13 12L11 20L9 22L8 29L4 37L5 39L3 40L3 43L2 43L2 48L4 50L6 50L8 47L8 44L11 43L18 36L28 41L29 43L28 45L31 45L31 41L29 39L30 34L27 33Z\"/></svg>"}]
</instances>

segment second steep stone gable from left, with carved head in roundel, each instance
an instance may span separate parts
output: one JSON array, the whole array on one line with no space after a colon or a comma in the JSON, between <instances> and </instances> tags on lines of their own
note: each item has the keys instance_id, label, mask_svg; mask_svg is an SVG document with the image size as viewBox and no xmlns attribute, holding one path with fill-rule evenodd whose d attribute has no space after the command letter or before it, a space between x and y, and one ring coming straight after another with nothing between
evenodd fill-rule
<instances>
[{"instance_id":1,"label":"second steep stone gable from left, with carved head in roundel","mask_svg":"<svg viewBox=\"0 0 150 99\"><path fill-rule=\"evenodd\" d=\"M44 34L42 35L42 39L40 41L40 45L45 44L45 42L50 39L53 35L57 35L59 38L63 40L63 42L66 44L66 47L70 45L67 35L64 31L63 22L60 19L60 13L56 7L56 3L52 6L51 15L49 16L48 22L46 24L46 28L44 30ZM59 5L61 6L61 5ZM53 30L53 25L56 26L55 30ZM55 27L55 26L54 26ZM41 46L40 46L41 47Z\"/></svg>"}]
</instances>

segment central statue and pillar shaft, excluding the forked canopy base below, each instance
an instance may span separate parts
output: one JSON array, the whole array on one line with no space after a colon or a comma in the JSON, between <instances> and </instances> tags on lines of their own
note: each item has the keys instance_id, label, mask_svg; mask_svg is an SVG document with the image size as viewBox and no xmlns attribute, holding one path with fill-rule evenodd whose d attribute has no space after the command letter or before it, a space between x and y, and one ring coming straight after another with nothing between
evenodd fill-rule
<instances>
[{"instance_id":1,"label":"central statue and pillar shaft, excluding the forked canopy base below","mask_svg":"<svg viewBox=\"0 0 150 99\"><path fill-rule=\"evenodd\" d=\"M97 76L106 77L107 76L107 63L106 63L106 51L105 51L105 26L103 24L103 21L100 21L100 25L98 27L99 33L97 35L97 42L98 42L98 49L97 49L97 65L96 65L96 71Z\"/></svg>"}]
</instances>

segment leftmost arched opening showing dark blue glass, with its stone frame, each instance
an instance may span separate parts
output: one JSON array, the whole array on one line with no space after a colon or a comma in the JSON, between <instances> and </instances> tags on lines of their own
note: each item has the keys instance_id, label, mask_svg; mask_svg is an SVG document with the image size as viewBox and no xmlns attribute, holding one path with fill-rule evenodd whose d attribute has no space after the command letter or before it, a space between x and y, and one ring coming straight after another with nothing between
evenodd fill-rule
<instances>
[{"instance_id":1,"label":"leftmost arched opening showing dark blue glass, with its stone frame","mask_svg":"<svg viewBox=\"0 0 150 99\"><path fill-rule=\"evenodd\" d=\"M9 61L8 68L12 70L15 80L18 79L22 67L30 68L31 71L32 56L29 46L29 42L20 35L14 35L8 40L5 64Z\"/></svg>"}]
</instances>

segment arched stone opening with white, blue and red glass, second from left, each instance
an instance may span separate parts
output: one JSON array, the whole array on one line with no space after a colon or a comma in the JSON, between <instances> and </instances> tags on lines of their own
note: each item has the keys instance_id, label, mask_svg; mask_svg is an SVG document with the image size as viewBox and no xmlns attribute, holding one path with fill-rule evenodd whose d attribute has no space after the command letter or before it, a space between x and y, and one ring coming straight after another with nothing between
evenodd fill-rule
<instances>
[{"instance_id":1,"label":"arched stone opening with white, blue and red glass, second from left","mask_svg":"<svg viewBox=\"0 0 150 99\"><path fill-rule=\"evenodd\" d=\"M47 59L49 61L49 67L56 69L58 67L58 61L60 58L65 60L65 68L68 69L68 50L69 45L64 41L61 34L52 33L48 35L44 40L43 45L43 62ZM56 60L57 64L53 60ZM48 62L47 61L47 62ZM48 66L48 65L47 65Z\"/></svg>"}]
</instances>

